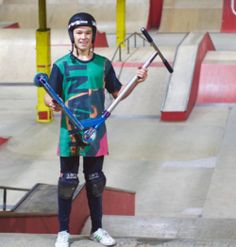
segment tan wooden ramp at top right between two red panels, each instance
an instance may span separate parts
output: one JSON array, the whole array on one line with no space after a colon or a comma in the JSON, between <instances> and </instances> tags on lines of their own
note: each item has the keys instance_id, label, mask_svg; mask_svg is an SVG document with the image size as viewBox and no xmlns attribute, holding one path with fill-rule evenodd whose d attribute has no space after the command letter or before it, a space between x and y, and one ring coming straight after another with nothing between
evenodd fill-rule
<instances>
[{"instance_id":1,"label":"tan wooden ramp at top right between two red panels","mask_svg":"<svg viewBox=\"0 0 236 247\"><path fill-rule=\"evenodd\" d=\"M220 31L222 8L221 0L165 0L159 31Z\"/></svg>"}]
</instances>

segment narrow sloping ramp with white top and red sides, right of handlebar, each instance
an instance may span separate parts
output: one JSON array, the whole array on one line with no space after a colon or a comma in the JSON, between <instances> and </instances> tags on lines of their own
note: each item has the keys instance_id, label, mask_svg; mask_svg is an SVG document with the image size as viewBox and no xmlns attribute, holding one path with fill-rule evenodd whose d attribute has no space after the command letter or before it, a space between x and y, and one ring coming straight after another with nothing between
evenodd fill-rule
<instances>
[{"instance_id":1,"label":"narrow sloping ramp with white top and red sides, right of handlebar","mask_svg":"<svg viewBox=\"0 0 236 247\"><path fill-rule=\"evenodd\" d=\"M161 119L182 121L188 118L197 98L200 67L208 50L214 50L208 33L190 33L178 47Z\"/></svg>"}]
</instances>

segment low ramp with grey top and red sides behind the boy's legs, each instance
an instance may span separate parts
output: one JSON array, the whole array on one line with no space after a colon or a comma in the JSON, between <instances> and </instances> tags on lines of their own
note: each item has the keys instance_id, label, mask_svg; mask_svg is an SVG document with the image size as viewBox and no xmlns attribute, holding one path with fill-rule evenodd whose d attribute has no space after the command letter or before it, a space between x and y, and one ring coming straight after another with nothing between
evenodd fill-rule
<instances>
[{"instance_id":1,"label":"low ramp with grey top and red sides behind the boy's legs","mask_svg":"<svg viewBox=\"0 0 236 247\"><path fill-rule=\"evenodd\" d=\"M0 231L56 234L58 231L57 189L57 185L36 184L12 211L0 212ZM134 192L106 187L103 201L104 215L134 215ZM85 184L80 184L73 196L70 216L71 234L80 234L88 217Z\"/></svg>"}]
</instances>

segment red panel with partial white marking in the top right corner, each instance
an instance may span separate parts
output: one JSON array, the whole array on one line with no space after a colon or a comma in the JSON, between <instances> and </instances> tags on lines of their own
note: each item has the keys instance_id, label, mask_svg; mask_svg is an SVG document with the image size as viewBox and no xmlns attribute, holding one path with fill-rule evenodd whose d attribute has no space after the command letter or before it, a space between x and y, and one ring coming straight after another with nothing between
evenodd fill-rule
<instances>
[{"instance_id":1,"label":"red panel with partial white marking in the top right corner","mask_svg":"<svg viewBox=\"0 0 236 247\"><path fill-rule=\"evenodd\" d=\"M221 32L236 32L236 1L224 0Z\"/></svg>"}]
</instances>

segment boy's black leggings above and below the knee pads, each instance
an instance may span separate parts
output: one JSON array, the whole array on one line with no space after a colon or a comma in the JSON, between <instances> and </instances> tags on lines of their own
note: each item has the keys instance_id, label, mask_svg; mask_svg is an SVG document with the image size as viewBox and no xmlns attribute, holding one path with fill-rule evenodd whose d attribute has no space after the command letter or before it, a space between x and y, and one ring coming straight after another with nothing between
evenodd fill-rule
<instances>
[{"instance_id":1,"label":"boy's black leggings above and below the knee pads","mask_svg":"<svg viewBox=\"0 0 236 247\"><path fill-rule=\"evenodd\" d=\"M61 174L71 172L78 174L79 172L79 156L60 157ZM83 158L83 173L86 178L89 174L101 172L103 168L104 156L100 157L84 157ZM88 205L91 216L92 229L95 232L102 227L102 196L95 197L87 190ZM69 220L72 206L72 199L62 199L58 196L58 219L60 231L69 231Z\"/></svg>"}]
</instances>

